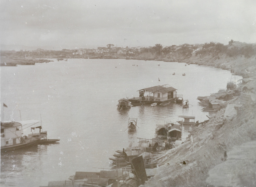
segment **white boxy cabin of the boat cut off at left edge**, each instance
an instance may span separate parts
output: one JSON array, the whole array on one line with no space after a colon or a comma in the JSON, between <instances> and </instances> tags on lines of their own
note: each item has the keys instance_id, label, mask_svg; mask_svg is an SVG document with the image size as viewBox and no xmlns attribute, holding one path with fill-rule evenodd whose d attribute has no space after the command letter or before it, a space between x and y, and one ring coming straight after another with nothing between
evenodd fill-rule
<instances>
[{"instance_id":1,"label":"white boxy cabin of the boat cut off at left edge","mask_svg":"<svg viewBox=\"0 0 256 187\"><path fill-rule=\"evenodd\" d=\"M1 147L20 144L22 124L19 122L1 122Z\"/></svg>"}]
</instances>

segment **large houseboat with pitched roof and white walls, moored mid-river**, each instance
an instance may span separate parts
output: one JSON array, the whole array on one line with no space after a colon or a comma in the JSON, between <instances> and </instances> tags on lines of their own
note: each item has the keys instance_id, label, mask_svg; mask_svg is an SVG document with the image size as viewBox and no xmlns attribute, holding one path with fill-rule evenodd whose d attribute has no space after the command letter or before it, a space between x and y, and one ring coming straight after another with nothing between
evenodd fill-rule
<instances>
[{"instance_id":1,"label":"large houseboat with pitched roof and white walls, moored mid-river","mask_svg":"<svg viewBox=\"0 0 256 187\"><path fill-rule=\"evenodd\" d=\"M128 99L131 105L151 105L152 103L163 103L173 101L177 97L177 89L170 85L159 85L138 90L139 97Z\"/></svg>"}]
</instances>

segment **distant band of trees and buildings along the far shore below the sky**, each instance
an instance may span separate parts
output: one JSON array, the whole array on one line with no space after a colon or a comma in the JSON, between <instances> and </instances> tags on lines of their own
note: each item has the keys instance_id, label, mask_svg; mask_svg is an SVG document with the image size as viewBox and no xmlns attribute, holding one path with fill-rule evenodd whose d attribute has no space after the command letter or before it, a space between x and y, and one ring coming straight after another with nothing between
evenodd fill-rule
<instances>
[{"instance_id":1,"label":"distant band of trees and buildings along the far shore below the sky","mask_svg":"<svg viewBox=\"0 0 256 187\"><path fill-rule=\"evenodd\" d=\"M256 54L256 44L247 44L244 42L238 42L230 40L228 45L224 45L219 42L209 42L204 44L183 44L183 45L171 45L163 46L161 44L155 44L151 47L134 47L126 48L114 47L113 44L106 45L107 47L99 47L97 49L62 49L61 51L43 50L38 48L34 51L1 51L1 56L9 58L97 58L97 57L144 57L145 54L151 56L153 59L163 59L171 55L180 56L183 58L194 56L211 55L212 57L219 57L220 55L227 55L228 57L234 57L237 55L243 55L246 58L252 57Z\"/></svg>"}]
</instances>

